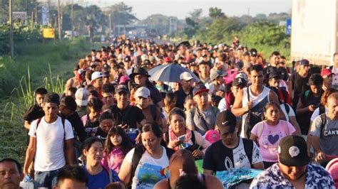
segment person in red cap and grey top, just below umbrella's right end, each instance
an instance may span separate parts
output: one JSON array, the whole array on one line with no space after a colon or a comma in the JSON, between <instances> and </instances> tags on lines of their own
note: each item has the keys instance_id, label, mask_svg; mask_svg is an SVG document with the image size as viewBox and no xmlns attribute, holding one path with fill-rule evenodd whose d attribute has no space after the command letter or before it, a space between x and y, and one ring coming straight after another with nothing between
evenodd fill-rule
<instances>
[{"instance_id":1,"label":"person in red cap and grey top, just below umbrella's right end","mask_svg":"<svg viewBox=\"0 0 338 189\"><path fill-rule=\"evenodd\" d=\"M204 85L194 88L193 99L197 102L197 106L190 109L186 119L187 128L198 131L201 135L210 129L215 129L216 117L220 113L217 107L210 106L208 92Z\"/></svg>"}]
</instances>

